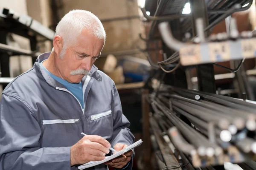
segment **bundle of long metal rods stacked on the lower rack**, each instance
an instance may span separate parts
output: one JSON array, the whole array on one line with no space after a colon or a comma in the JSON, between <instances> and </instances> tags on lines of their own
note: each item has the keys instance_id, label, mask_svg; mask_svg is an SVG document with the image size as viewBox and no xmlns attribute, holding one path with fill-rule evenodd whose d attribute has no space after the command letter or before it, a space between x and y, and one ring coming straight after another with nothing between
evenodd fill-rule
<instances>
[{"instance_id":1,"label":"bundle of long metal rods stacked on the lower rack","mask_svg":"<svg viewBox=\"0 0 256 170\"><path fill-rule=\"evenodd\" d=\"M150 99L159 124L169 125L170 138L194 157L194 166L255 159L253 102L169 85L161 85Z\"/></svg>"}]
</instances>

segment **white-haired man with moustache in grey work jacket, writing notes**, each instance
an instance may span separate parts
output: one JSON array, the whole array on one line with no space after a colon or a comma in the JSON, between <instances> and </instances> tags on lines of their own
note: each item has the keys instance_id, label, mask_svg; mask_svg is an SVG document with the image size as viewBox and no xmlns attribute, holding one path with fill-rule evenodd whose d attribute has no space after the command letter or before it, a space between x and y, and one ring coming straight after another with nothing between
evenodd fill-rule
<instances>
[{"instance_id":1,"label":"white-haired man with moustache in grey work jacket, writing notes","mask_svg":"<svg viewBox=\"0 0 256 170\"><path fill-rule=\"evenodd\" d=\"M104 159L111 146L121 150L134 142L114 82L93 65L105 36L94 14L70 11L56 27L52 52L5 88L1 170L75 170ZM131 170L132 154L106 164ZM107 170L106 164L91 169Z\"/></svg>"}]
</instances>

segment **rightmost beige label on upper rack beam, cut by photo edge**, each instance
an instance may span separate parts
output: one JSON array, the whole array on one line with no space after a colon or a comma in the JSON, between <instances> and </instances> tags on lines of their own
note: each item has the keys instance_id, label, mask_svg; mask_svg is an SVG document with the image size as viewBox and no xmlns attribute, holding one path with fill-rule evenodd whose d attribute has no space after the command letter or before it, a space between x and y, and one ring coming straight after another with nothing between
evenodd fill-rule
<instances>
[{"instance_id":1,"label":"rightmost beige label on upper rack beam, cut by photo edge","mask_svg":"<svg viewBox=\"0 0 256 170\"><path fill-rule=\"evenodd\" d=\"M256 39L244 39L241 40L242 45L242 57L253 58L256 57Z\"/></svg>"}]
</instances>

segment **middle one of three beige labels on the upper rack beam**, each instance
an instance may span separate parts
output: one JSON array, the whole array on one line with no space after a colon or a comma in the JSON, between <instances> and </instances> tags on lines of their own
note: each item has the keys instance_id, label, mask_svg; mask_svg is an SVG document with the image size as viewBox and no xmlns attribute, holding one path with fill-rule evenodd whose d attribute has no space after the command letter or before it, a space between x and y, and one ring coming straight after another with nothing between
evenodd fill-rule
<instances>
[{"instance_id":1,"label":"middle one of three beige labels on the upper rack beam","mask_svg":"<svg viewBox=\"0 0 256 170\"><path fill-rule=\"evenodd\" d=\"M211 62L230 60L230 47L228 42L209 43L209 55Z\"/></svg>"}]
</instances>

